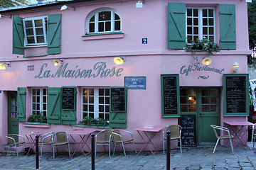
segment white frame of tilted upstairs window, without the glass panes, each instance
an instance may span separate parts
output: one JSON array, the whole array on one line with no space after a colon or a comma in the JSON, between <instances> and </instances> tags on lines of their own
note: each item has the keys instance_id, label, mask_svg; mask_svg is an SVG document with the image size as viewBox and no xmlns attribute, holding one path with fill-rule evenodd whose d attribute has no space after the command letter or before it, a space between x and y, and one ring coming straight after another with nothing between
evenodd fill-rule
<instances>
[{"instance_id":1,"label":"white frame of tilted upstairs window, without the glass panes","mask_svg":"<svg viewBox=\"0 0 256 170\"><path fill-rule=\"evenodd\" d=\"M23 19L23 32L24 32L24 46L25 47L35 47L35 46L46 46L47 45L47 30L46 30L46 22L45 18L48 18L47 16L40 16L40 17L34 17L34 18L24 18ZM43 37L45 42L37 42L36 40L36 26L35 26L35 20L42 20L43 23ZM26 21L32 21L33 24L33 35L26 35ZM42 28L42 27L38 27ZM42 36L42 35L41 35ZM35 43L28 43L27 37L33 37L35 40Z\"/></svg>"}]
</instances>

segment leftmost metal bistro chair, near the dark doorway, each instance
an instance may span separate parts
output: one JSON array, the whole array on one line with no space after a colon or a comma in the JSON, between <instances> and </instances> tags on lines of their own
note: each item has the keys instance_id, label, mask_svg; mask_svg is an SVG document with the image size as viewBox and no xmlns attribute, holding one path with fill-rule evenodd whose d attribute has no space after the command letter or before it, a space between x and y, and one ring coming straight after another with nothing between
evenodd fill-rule
<instances>
[{"instance_id":1,"label":"leftmost metal bistro chair, near the dark doorway","mask_svg":"<svg viewBox=\"0 0 256 170\"><path fill-rule=\"evenodd\" d=\"M14 137L17 137L19 140L22 139L22 141L21 142L16 142ZM6 156L9 156L9 150L10 150L11 147L15 147L14 154L16 152L17 156L18 156L18 147L20 147L22 145L26 145L25 138L22 135L16 135L16 134L8 134L8 135L6 135L6 138L8 140L8 145L9 145L8 146L8 152L7 152Z\"/></svg>"}]
</instances>

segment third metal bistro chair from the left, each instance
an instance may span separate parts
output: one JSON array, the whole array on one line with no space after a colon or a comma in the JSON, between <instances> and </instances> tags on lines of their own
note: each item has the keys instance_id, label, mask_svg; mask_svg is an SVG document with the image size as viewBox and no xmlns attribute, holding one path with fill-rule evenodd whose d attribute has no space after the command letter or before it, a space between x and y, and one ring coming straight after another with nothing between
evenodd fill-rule
<instances>
[{"instance_id":1,"label":"third metal bistro chair from the left","mask_svg":"<svg viewBox=\"0 0 256 170\"><path fill-rule=\"evenodd\" d=\"M69 142L68 142L68 132L55 132L53 134L53 136L52 136L52 141L53 141L53 159L55 158L55 150L54 150L54 148L56 147L56 149L58 149L58 147L63 147L63 145L68 145L68 155L70 157L70 147L69 147Z\"/></svg>"}]
</instances>

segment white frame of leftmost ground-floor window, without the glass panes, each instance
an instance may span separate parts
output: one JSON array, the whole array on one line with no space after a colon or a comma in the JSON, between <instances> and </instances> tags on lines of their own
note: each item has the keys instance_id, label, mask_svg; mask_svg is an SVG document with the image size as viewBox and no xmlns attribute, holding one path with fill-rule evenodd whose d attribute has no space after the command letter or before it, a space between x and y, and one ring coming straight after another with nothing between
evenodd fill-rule
<instances>
[{"instance_id":1,"label":"white frame of leftmost ground-floor window, without the glass panes","mask_svg":"<svg viewBox=\"0 0 256 170\"><path fill-rule=\"evenodd\" d=\"M46 94L43 94L43 90L46 90ZM39 90L40 94L33 94L33 90ZM39 101L37 101L37 97L39 96ZM31 88L31 115L33 113L46 113L45 115L47 116L47 96L48 96L48 91L46 87L37 87L37 88ZM36 101L33 101L33 97L36 97ZM46 98L46 102L43 102L43 98ZM39 109L37 109L35 107L35 109L33 109L33 104L39 104ZM46 105L46 109L43 109L43 105Z\"/></svg>"}]
</instances>

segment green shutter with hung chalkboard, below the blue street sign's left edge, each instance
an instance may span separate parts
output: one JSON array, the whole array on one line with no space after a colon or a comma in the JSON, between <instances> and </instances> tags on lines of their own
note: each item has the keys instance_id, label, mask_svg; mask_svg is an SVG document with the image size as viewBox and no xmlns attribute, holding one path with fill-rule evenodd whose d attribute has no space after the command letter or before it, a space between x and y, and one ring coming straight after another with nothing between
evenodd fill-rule
<instances>
[{"instance_id":1,"label":"green shutter with hung chalkboard, below the blue street sign's left edge","mask_svg":"<svg viewBox=\"0 0 256 170\"><path fill-rule=\"evenodd\" d=\"M114 89L121 89L124 94L114 94ZM118 96L121 98L123 96L123 100L114 102L114 98L118 98ZM120 104L121 106L117 106L117 108L121 109L114 108L114 104ZM110 127L127 128L127 87L110 87Z\"/></svg>"}]
</instances>

